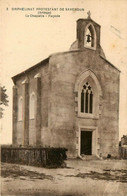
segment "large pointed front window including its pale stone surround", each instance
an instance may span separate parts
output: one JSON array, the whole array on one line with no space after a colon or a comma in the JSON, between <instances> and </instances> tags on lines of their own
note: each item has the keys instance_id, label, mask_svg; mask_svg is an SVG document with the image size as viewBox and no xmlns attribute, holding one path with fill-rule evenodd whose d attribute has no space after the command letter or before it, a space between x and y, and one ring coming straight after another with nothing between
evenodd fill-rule
<instances>
[{"instance_id":1,"label":"large pointed front window including its pale stone surround","mask_svg":"<svg viewBox=\"0 0 127 196\"><path fill-rule=\"evenodd\" d=\"M98 78L91 71L82 72L75 83L74 87L75 111L78 117L82 118L99 118L101 113L102 90Z\"/></svg>"}]
</instances>

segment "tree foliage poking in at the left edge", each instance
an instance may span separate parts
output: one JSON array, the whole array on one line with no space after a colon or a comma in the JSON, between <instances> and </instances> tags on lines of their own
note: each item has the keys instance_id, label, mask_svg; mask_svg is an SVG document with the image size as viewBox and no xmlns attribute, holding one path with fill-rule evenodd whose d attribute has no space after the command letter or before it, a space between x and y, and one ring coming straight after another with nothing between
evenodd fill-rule
<instances>
[{"instance_id":1,"label":"tree foliage poking in at the left edge","mask_svg":"<svg viewBox=\"0 0 127 196\"><path fill-rule=\"evenodd\" d=\"M8 106L8 95L6 93L7 89L5 86L1 87L0 86L0 118L3 118L3 111L4 111L4 106Z\"/></svg>"}]
</instances>

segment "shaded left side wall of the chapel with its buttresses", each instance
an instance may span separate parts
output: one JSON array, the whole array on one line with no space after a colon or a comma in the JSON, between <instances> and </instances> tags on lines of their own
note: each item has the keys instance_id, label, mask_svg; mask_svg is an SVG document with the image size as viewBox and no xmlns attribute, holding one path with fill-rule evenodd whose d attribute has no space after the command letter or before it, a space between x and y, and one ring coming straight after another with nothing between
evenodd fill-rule
<instances>
[{"instance_id":1,"label":"shaded left side wall of the chapel with its buttresses","mask_svg":"<svg viewBox=\"0 0 127 196\"><path fill-rule=\"evenodd\" d=\"M40 74L39 79L35 78L37 74ZM27 101L24 98L24 84L23 82L27 81L28 89L27 89ZM39 84L40 83L40 84ZM17 99L13 104L15 109L15 113L13 110L13 119L15 119L13 123L13 128L16 130L13 133L13 144L16 145L41 145L43 141L41 140L41 129L48 126L48 94L49 94L49 72L48 72L48 63L43 65L40 68L36 68L31 70L27 74L22 74L18 77L15 83ZM41 86L40 86L41 85ZM40 95L39 95L40 92ZM35 118L30 119L30 96L31 94L35 94ZM15 97L15 96L14 96ZM18 101L19 98L23 98L23 119L18 119ZM40 99L40 100L39 100ZM15 100L15 99L14 99ZM25 105L26 103L26 105ZM38 109L37 109L38 105ZM27 109L27 114L26 110ZM14 117L16 116L16 118ZM27 123L27 127L24 125L24 115L25 123ZM39 120L40 119L40 120ZM26 128L25 128L26 127ZM24 130L25 129L25 130ZM38 132L37 132L38 130ZM27 134L27 136L24 136ZM27 143L24 143L24 139L27 137Z\"/></svg>"}]
</instances>

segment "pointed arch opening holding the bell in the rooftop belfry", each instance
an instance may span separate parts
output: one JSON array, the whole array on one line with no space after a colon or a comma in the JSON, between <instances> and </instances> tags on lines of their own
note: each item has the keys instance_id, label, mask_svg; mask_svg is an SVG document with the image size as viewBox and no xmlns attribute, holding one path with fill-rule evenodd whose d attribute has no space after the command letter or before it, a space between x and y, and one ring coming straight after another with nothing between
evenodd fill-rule
<instances>
[{"instance_id":1,"label":"pointed arch opening holding the bell in the rooftop belfry","mask_svg":"<svg viewBox=\"0 0 127 196\"><path fill-rule=\"evenodd\" d=\"M91 48L96 47L96 33L92 24L87 25L85 29L84 46Z\"/></svg>"}]
</instances>

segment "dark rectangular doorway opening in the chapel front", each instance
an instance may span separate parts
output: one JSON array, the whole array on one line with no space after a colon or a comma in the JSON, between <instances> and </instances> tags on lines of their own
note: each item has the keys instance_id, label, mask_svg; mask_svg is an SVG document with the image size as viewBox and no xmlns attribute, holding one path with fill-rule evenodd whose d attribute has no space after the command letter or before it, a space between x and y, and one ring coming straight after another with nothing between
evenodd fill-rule
<instances>
[{"instance_id":1,"label":"dark rectangular doorway opening in the chapel front","mask_svg":"<svg viewBox=\"0 0 127 196\"><path fill-rule=\"evenodd\" d=\"M81 154L92 154L92 131L81 131Z\"/></svg>"}]
</instances>

